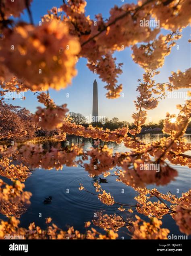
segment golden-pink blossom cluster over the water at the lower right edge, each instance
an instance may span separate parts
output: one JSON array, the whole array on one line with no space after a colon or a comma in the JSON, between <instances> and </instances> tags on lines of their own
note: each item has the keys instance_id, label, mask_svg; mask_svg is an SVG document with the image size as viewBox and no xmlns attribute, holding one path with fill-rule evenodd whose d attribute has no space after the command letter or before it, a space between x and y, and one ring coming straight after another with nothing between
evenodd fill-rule
<instances>
[{"instance_id":1,"label":"golden-pink blossom cluster over the water at the lower right edge","mask_svg":"<svg viewBox=\"0 0 191 256\"><path fill-rule=\"evenodd\" d=\"M149 190L147 188L137 188L136 191L139 193L135 197L137 204L137 212L153 218L162 218L164 215L170 213L172 218L176 221L179 229L182 233L187 235L191 234L190 223L191 223L191 190L182 194L182 197L176 197L172 193L167 194L160 193L156 188ZM152 202L150 199L156 197L160 201ZM171 205L167 205L166 202L170 202Z\"/></svg>"}]
</instances>

